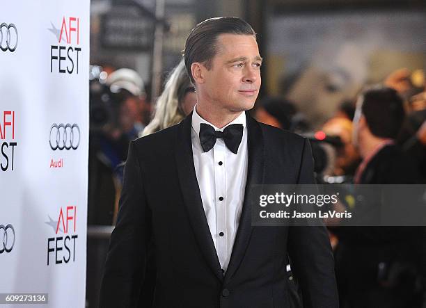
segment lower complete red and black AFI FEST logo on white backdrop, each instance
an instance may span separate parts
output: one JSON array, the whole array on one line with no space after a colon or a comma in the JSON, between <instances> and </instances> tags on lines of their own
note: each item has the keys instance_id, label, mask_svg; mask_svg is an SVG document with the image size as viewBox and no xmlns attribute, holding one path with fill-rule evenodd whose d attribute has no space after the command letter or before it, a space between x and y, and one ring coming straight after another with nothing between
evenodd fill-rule
<instances>
[{"instance_id":1,"label":"lower complete red and black AFI FEST logo on white backdrop","mask_svg":"<svg viewBox=\"0 0 426 308\"><path fill-rule=\"evenodd\" d=\"M59 209L58 220L45 222L54 229L56 236L47 238L47 265L50 264L68 264L75 261L75 245L78 235L76 234L77 225L77 206L66 206Z\"/></svg>"}]
</instances>

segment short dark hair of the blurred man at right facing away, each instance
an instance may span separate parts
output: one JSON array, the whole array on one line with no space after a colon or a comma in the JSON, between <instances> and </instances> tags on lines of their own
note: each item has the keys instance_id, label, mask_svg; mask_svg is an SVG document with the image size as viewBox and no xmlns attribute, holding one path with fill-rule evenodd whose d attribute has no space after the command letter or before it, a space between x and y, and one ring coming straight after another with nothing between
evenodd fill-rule
<instances>
[{"instance_id":1,"label":"short dark hair of the blurred man at right facing away","mask_svg":"<svg viewBox=\"0 0 426 308\"><path fill-rule=\"evenodd\" d=\"M379 138L396 138L405 112L402 98L393 88L375 86L363 92L361 108L368 128Z\"/></svg>"}]
</instances>

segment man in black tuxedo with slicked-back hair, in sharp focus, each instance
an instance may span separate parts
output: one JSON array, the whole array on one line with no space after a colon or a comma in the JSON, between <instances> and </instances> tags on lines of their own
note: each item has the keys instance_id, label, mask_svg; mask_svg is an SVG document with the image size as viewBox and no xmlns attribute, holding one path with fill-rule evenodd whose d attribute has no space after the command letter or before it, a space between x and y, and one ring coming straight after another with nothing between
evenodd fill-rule
<instances>
[{"instance_id":1,"label":"man in black tuxedo with slicked-back hair, in sharp focus","mask_svg":"<svg viewBox=\"0 0 426 308\"><path fill-rule=\"evenodd\" d=\"M198 104L129 145L100 306L151 295L145 307L290 307L288 254L304 307L338 307L323 226L251 226L251 185L315 183L306 138L246 113L260 88L255 32L237 17L207 19L184 60Z\"/></svg>"}]
</instances>

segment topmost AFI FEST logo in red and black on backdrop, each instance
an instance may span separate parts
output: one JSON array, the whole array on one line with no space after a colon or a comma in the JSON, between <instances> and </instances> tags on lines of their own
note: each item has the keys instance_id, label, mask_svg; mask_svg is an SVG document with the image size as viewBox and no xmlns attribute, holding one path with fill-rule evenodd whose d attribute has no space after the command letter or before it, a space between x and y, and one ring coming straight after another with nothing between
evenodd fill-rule
<instances>
[{"instance_id":1,"label":"topmost AFI FEST logo in red and black on backdrop","mask_svg":"<svg viewBox=\"0 0 426 308\"><path fill-rule=\"evenodd\" d=\"M57 43L50 47L50 72L79 74L80 18L64 16L60 28L50 24Z\"/></svg>"}]
</instances>

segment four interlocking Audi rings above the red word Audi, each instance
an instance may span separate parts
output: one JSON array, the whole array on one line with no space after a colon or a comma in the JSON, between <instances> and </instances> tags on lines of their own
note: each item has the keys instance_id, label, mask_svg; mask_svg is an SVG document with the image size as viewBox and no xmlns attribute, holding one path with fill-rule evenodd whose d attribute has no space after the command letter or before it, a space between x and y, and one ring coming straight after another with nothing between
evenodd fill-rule
<instances>
[{"instance_id":1,"label":"four interlocking Audi rings above the red word Audi","mask_svg":"<svg viewBox=\"0 0 426 308\"><path fill-rule=\"evenodd\" d=\"M80 144L80 129L77 124L56 124L50 127L49 135L50 148L56 149L77 149Z\"/></svg>"}]
</instances>

